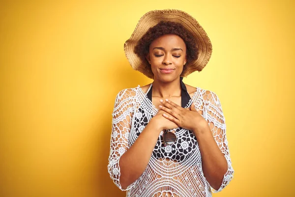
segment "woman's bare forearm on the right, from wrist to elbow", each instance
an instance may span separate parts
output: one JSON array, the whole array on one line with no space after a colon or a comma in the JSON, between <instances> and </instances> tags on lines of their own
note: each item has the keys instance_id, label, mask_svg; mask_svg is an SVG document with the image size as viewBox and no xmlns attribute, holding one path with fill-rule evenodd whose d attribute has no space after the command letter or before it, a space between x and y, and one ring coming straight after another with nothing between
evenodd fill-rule
<instances>
[{"instance_id":1,"label":"woman's bare forearm on the right, from wrist to elbow","mask_svg":"<svg viewBox=\"0 0 295 197\"><path fill-rule=\"evenodd\" d=\"M194 133L202 156L204 176L208 183L218 190L228 168L227 161L216 144L208 125L201 130L194 130Z\"/></svg>"}]
</instances>

